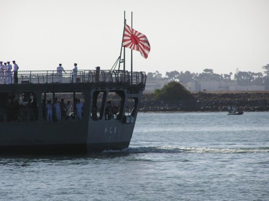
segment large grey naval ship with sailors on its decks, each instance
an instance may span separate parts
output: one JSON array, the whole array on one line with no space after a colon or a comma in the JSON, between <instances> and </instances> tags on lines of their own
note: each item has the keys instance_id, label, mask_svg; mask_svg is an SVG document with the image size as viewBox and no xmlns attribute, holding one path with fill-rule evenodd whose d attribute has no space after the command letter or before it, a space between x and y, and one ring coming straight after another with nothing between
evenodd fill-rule
<instances>
[{"instance_id":1,"label":"large grey naval ship with sailors on its decks","mask_svg":"<svg viewBox=\"0 0 269 201\"><path fill-rule=\"evenodd\" d=\"M1 84L1 154L74 154L128 147L146 73L78 70L73 81L74 72L65 72L59 82L57 71L19 71L18 84ZM82 118L77 116L79 99L84 104ZM49 100L52 121L47 121Z\"/></svg>"}]
</instances>

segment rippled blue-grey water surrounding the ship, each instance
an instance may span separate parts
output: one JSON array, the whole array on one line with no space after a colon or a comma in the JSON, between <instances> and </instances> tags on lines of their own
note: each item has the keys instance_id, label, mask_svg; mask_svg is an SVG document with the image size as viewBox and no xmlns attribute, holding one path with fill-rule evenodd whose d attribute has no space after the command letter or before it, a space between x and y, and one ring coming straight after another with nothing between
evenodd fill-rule
<instances>
[{"instance_id":1,"label":"rippled blue-grey water surrounding the ship","mask_svg":"<svg viewBox=\"0 0 269 201\"><path fill-rule=\"evenodd\" d=\"M139 113L128 149L0 156L0 200L269 200L269 113Z\"/></svg>"}]
</instances>

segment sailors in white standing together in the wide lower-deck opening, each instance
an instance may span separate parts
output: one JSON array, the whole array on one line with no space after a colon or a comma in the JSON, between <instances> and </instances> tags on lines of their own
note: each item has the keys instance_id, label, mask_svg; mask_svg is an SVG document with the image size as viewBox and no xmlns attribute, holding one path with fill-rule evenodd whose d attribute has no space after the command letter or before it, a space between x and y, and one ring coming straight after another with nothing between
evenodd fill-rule
<instances>
[{"instance_id":1,"label":"sailors in white standing together in the wide lower-deck opening","mask_svg":"<svg viewBox=\"0 0 269 201\"><path fill-rule=\"evenodd\" d=\"M82 113L84 104L80 101L80 99L75 99L75 110L74 114L77 114L78 120L82 120ZM52 117L54 115L57 121L61 120L68 120L72 110L72 104L68 100L67 104L64 104L64 100L61 99L58 102L57 98L55 97L53 104L51 104L51 100L47 100L46 104L46 120L47 122L52 122Z\"/></svg>"}]
</instances>

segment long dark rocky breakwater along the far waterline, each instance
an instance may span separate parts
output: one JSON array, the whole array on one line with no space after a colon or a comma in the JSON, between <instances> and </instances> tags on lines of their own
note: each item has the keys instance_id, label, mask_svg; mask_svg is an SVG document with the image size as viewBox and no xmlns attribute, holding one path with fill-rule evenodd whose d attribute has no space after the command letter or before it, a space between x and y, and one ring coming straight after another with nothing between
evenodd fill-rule
<instances>
[{"instance_id":1,"label":"long dark rocky breakwater along the far waterline","mask_svg":"<svg viewBox=\"0 0 269 201\"><path fill-rule=\"evenodd\" d=\"M240 107L244 112L269 111L269 92L239 93L192 93L190 100L165 102L154 98L153 93L144 93L139 112L220 112L229 106Z\"/></svg>"}]
</instances>

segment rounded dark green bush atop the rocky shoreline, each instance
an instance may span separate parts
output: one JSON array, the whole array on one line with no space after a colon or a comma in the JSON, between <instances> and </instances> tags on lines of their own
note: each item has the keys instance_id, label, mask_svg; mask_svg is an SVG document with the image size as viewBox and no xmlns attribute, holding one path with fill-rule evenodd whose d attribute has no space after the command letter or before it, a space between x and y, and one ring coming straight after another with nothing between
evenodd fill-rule
<instances>
[{"instance_id":1,"label":"rounded dark green bush atop the rocky shoreline","mask_svg":"<svg viewBox=\"0 0 269 201\"><path fill-rule=\"evenodd\" d=\"M177 100L191 99L193 96L179 82L172 81L164 85L162 89L156 89L154 92L156 99L174 102Z\"/></svg>"}]
</instances>

